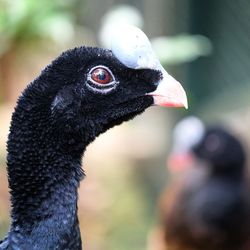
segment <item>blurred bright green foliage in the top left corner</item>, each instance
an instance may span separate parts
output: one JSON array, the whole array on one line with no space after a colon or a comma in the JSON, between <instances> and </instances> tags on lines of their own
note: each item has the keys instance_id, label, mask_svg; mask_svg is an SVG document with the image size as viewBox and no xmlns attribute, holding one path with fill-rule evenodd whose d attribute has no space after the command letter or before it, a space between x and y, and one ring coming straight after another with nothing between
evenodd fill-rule
<instances>
[{"instance_id":1,"label":"blurred bright green foliage in the top left corner","mask_svg":"<svg viewBox=\"0 0 250 250\"><path fill-rule=\"evenodd\" d=\"M71 10L74 3L66 0L0 0L0 55L11 46L55 38L58 27L68 28L73 23Z\"/></svg>"}]
</instances>

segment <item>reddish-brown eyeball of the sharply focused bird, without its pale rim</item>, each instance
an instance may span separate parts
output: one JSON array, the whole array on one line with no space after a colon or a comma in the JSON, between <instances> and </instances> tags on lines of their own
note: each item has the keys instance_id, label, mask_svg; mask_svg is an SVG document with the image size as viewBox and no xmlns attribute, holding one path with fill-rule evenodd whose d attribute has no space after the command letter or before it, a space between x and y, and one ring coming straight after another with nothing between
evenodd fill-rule
<instances>
[{"instance_id":1,"label":"reddish-brown eyeball of the sharply focused bird, without its pale rim","mask_svg":"<svg viewBox=\"0 0 250 250\"><path fill-rule=\"evenodd\" d=\"M93 82L98 84L109 84L114 81L111 72L103 67L94 68L90 72L90 78Z\"/></svg>"}]
</instances>

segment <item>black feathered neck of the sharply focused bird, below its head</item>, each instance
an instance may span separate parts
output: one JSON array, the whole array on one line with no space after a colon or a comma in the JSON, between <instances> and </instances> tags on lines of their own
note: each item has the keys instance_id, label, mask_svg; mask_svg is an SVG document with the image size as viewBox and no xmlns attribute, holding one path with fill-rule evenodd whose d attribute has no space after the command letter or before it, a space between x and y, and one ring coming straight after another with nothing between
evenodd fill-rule
<instances>
[{"instance_id":1,"label":"black feathered neck of the sharply focused bird, below its head","mask_svg":"<svg viewBox=\"0 0 250 250\"><path fill-rule=\"evenodd\" d=\"M55 249L56 242L80 245L81 241L77 189L84 176L81 157L86 144L79 141L67 150L69 145L64 148L64 140L60 139L63 135L55 133L50 124L48 114L22 112L18 106L8 140L10 235L18 231L19 235L27 236L20 239L41 242L41 246L47 242L47 247L39 249Z\"/></svg>"}]
</instances>

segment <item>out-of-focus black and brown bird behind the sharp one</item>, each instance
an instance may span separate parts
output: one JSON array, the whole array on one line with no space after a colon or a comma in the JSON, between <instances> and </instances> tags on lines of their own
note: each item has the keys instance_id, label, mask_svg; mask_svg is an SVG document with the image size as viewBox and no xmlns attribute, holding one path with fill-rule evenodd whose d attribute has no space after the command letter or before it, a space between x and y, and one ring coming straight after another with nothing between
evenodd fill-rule
<instances>
[{"instance_id":1,"label":"out-of-focus black and brown bird behind the sharp one","mask_svg":"<svg viewBox=\"0 0 250 250\"><path fill-rule=\"evenodd\" d=\"M186 155L183 159L188 159L186 164L192 166L177 183L173 182L161 200L167 249L247 249L249 190L244 148L226 129L202 128L195 118L182 122L175 132L189 122L196 123L196 138L191 142L186 136L177 141L187 142L181 151ZM188 127L189 135L194 135Z\"/></svg>"}]
</instances>

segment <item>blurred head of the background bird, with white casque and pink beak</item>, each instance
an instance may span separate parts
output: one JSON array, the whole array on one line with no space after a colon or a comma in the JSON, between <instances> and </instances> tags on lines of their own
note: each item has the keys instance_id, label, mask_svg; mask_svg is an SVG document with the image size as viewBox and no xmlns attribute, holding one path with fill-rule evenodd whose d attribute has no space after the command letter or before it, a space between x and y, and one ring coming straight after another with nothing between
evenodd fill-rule
<instances>
[{"instance_id":1,"label":"blurred head of the background bird, with white casque and pink beak","mask_svg":"<svg viewBox=\"0 0 250 250\"><path fill-rule=\"evenodd\" d=\"M244 148L238 138L221 126L206 127L194 116L181 120L174 128L173 149L168 167L182 171L196 165L197 160L215 170L241 168L245 163Z\"/></svg>"}]
</instances>

